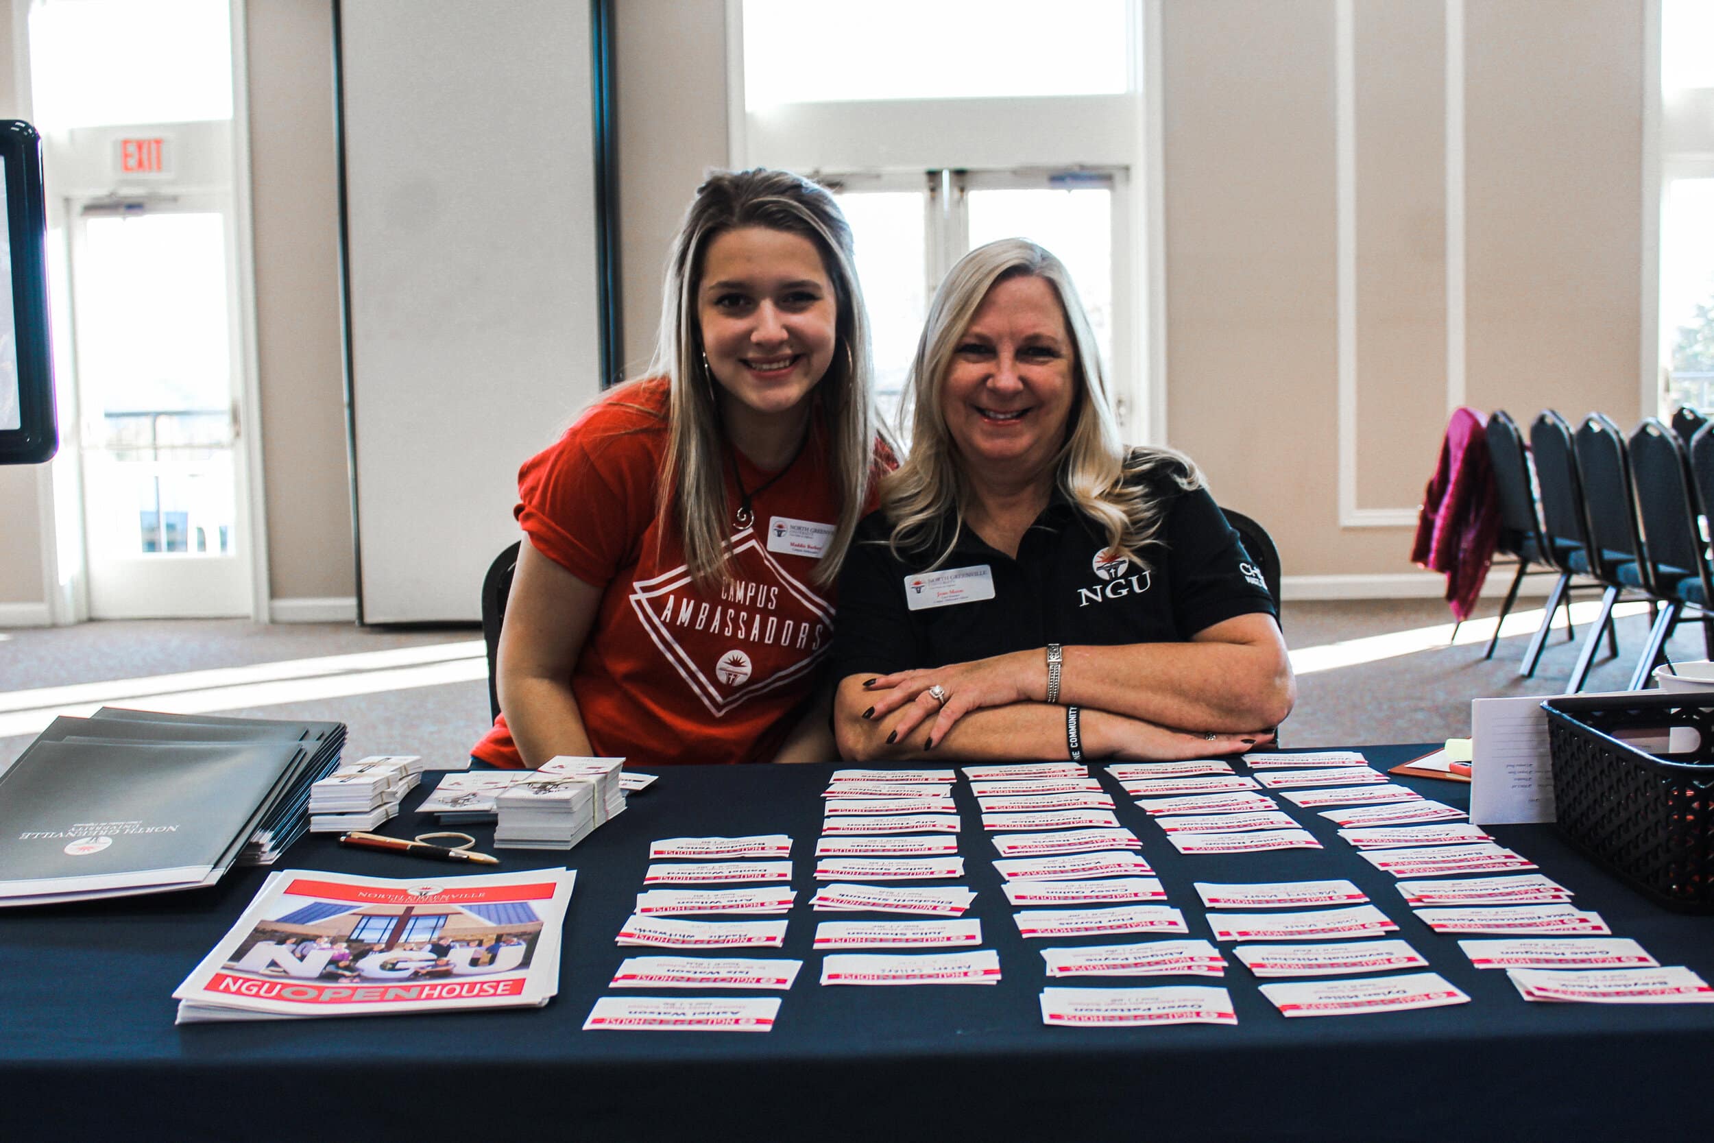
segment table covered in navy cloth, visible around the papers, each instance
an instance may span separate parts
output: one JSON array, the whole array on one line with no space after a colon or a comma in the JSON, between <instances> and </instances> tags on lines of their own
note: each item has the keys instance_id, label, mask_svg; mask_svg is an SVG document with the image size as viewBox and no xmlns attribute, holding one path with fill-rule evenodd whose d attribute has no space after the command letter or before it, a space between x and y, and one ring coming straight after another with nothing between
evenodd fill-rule
<instances>
[{"instance_id":1,"label":"table covered in navy cloth, visible around the papers","mask_svg":"<svg viewBox=\"0 0 1714 1143\"><path fill-rule=\"evenodd\" d=\"M1364 747L1376 766L1421 747ZM1191 881L1351 877L1399 922L1397 936L1471 1004L1416 1013L1286 1020L1229 958L1222 982L1239 1025L1047 1028L1040 941L1010 917L968 783L965 884L979 896L994 987L821 987L809 944L814 840L833 766L679 768L632 795L629 812L569 853L500 850L502 869L579 871L560 994L545 1009L257 1021L175 1028L171 990L237 919L264 871L219 886L130 900L0 912L0 1138L341 1140L1704 1140L1714 1006L1524 1002L1503 972L1476 972L1455 937L1417 922L1393 877L1333 824L1282 802L1318 852L1183 857L1116 795L1191 937L1208 927ZM1095 768L1100 769L1099 766ZM1465 787L1405 780L1462 804ZM411 793L406 805L415 805ZM432 828L406 812L393 833ZM475 829L485 843L482 828ZM627 954L614 934L643 888L648 841L790 833L787 944L797 985L764 1035L581 1032ZM1615 936L1714 980L1714 919L1632 895L1551 826L1500 826L1496 840L1577 893ZM312 836L295 869L440 876L389 853ZM835 917L838 919L838 917ZM1121 943L1102 937L1085 943ZM1071 984L1071 982L1054 982ZM1217 984L1100 978L1090 984ZM679 992L694 996L694 992ZM740 994L727 994L740 996ZM27 1134L26 1134L27 1133Z\"/></svg>"}]
</instances>

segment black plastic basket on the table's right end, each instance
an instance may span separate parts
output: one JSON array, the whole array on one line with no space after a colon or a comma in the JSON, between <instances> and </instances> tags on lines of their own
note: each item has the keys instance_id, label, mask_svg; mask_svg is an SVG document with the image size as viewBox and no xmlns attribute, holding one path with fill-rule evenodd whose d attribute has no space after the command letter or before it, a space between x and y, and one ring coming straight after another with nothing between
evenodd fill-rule
<instances>
[{"instance_id":1,"label":"black plastic basket on the table's right end","mask_svg":"<svg viewBox=\"0 0 1714 1143\"><path fill-rule=\"evenodd\" d=\"M1714 694L1565 696L1541 708L1560 831L1644 896L1714 913Z\"/></svg>"}]
</instances>

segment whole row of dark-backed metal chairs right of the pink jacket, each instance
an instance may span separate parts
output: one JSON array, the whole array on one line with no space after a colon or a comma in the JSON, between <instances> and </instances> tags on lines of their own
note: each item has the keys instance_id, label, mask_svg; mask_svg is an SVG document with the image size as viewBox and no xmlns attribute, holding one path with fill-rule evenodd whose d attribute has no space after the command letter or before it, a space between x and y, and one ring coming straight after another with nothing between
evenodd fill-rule
<instances>
[{"instance_id":1,"label":"whole row of dark-backed metal chairs right of the pink jacket","mask_svg":"<svg viewBox=\"0 0 1714 1143\"><path fill-rule=\"evenodd\" d=\"M1488 418L1488 452L1500 506L1498 550L1517 560L1500 620L1517 601L1524 576L1556 574L1520 673L1536 672L1553 617L1582 586L1601 591L1601 612L1584 637L1568 692L1582 689L1603 637L1618 655L1613 605L1627 595L1647 600L1654 615L1630 679L1633 691L1647 685L1668 636L1685 619L1702 620L1714 658L1704 524L1704 506L1714 506L1714 427L1707 418L1687 408L1668 427L1651 416L1627 439L1601 413L1573 432L1560 413L1544 410L1531 423L1525 447L1517 423L1500 411ZM1567 637L1575 637L1568 610ZM1484 658L1498 641L1496 627Z\"/></svg>"}]
</instances>

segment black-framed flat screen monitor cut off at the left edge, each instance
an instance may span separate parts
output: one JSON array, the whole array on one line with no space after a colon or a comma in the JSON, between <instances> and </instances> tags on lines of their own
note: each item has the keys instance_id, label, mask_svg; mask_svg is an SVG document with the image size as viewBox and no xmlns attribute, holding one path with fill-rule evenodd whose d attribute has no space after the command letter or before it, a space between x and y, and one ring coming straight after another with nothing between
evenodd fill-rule
<instances>
[{"instance_id":1,"label":"black-framed flat screen monitor cut off at the left edge","mask_svg":"<svg viewBox=\"0 0 1714 1143\"><path fill-rule=\"evenodd\" d=\"M60 447L48 341L48 219L41 135L0 120L0 464L39 464Z\"/></svg>"}]
</instances>

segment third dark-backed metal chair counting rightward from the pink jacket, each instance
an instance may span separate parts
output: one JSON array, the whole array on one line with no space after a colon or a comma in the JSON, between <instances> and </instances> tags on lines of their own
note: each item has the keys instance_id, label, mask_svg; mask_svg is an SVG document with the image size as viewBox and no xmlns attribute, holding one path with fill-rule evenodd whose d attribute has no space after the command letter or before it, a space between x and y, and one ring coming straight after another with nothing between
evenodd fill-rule
<instances>
[{"instance_id":1,"label":"third dark-backed metal chair counting rightward from the pink jacket","mask_svg":"<svg viewBox=\"0 0 1714 1143\"><path fill-rule=\"evenodd\" d=\"M1591 413L1577 428L1572 456L1584 488L1587 509L1584 519L1589 526L1589 547L1582 560L1589 566L1587 574L1606 588L1601 593L1601 615L1584 639L1584 649L1572 670L1568 691L1575 694L1584 689L1596 646L1601 643L1601 631L1613 627L1613 605L1627 591L1647 596L1649 584L1642 566L1637 494L1630 480L1625 435L1603 413ZM1652 598L1649 610L1659 612ZM1616 644L1613 653L1618 655Z\"/></svg>"}]
</instances>

